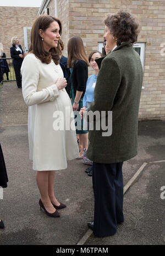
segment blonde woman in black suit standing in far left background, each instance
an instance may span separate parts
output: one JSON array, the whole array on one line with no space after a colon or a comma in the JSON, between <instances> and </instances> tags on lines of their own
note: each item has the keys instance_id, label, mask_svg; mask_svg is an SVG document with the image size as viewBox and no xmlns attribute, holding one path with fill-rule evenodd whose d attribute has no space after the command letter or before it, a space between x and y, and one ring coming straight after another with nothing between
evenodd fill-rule
<instances>
[{"instance_id":1,"label":"blonde woman in black suit standing in far left background","mask_svg":"<svg viewBox=\"0 0 165 256\"><path fill-rule=\"evenodd\" d=\"M10 55L13 58L13 66L14 66L17 86L18 88L22 88L20 69L24 59L24 51L21 45L19 44L19 39L17 36L14 36L11 39L11 44L12 44L12 47L10 48Z\"/></svg>"}]
</instances>

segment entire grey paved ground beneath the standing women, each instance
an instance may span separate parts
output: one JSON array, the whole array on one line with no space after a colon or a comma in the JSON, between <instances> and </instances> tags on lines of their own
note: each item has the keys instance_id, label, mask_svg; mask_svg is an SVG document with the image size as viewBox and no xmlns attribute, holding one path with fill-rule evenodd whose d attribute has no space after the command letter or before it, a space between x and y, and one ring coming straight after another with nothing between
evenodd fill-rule
<instances>
[{"instance_id":1,"label":"entire grey paved ground beneath the standing women","mask_svg":"<svg viewBox=\"0 0 165 256\"><path fill-rule=\"evenodd\" d=\"M92 220L94 197L92 178L81 160L68 162L67 170L56 172L56 194L67 204L60 218L40 211L40 194L35 171L29 160L27 106L15 83L0 88L0 142L8 172L8 188L0 200L0 244L76 244ZM112 237L86 241L91 244L165 244L165 121L139 122L139 154L124 163L124 185L141 167L147 165L124 194L125 222ZM155 161L160 161L156 162ZM164 194L165 196L165 194Z\"/></svg>"}]
</instances>

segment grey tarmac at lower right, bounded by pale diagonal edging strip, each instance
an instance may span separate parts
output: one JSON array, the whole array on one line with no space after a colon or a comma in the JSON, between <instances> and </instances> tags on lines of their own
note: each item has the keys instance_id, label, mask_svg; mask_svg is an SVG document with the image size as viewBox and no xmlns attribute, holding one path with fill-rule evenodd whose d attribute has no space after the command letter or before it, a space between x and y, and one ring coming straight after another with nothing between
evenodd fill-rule
<instances>
[{"instance_id":1,"label":"grey tarmac at lower right, bounded by pale diagonal edging strip","mask_svg":"<svg viewBox=\"0 0 165 256\"><path fill-rule=\"evenodd\" d=\"M165 199L161 187L165 185L165 163L149 163L136 182L124 195L124 217L114 236L96 238L86 245L160 245L165 244Z\"/></svg>"}]
</instances>

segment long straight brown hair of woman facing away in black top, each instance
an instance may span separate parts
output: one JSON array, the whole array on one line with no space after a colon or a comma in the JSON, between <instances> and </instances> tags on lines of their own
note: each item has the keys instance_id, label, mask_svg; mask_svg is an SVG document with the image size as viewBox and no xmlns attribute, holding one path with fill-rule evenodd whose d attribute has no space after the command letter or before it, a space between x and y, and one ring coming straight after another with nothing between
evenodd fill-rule
<instances>
[{"instance_id":1,"label":"long straight brown hair of woman facing away in black top","mask_svg":"<svg viewBox=\"0 0 165 256\"><path fill-rule=\"evenodd\" d=\"M73 68L74 61L83 60L89 66L87 60L83 40L80 36L72 36L68 41L68 66Z\"/></svg>"}]
</instances>

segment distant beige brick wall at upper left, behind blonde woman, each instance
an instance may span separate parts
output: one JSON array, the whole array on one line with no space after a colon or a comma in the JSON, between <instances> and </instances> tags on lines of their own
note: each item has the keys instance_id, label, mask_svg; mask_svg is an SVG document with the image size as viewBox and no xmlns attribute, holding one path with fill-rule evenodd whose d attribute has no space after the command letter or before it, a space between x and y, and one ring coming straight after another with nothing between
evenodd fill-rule
<instances>
[{"instance_id":1,"label":"distant beige brick wall at upper left, behind blonde woman","mask_svg":"<svg viewBox=\"0 0 165 256\"><path fill-rule=\"evenodd\" d=\"M10 40L18 36L24 50L24 27L31 27L37 17L38 8L35 7L0 7L0 42L4 52L10 57Z\"/></svg>"}]
</instances>

